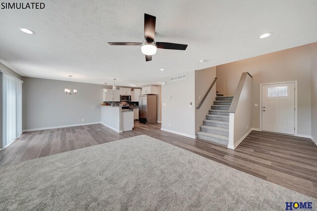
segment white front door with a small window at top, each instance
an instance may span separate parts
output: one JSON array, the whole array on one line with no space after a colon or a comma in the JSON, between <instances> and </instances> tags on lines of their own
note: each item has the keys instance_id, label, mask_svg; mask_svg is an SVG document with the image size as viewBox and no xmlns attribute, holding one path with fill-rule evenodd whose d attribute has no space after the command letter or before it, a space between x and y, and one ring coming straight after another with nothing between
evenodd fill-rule
<instances>
[{"instance_id":1,"label":"white front door with a small window at top","mask_svg":"<svg viewBox=\"0 0 317 211\"><path fill-rule=\"evenodd\" d=\"M262 130L295 134L295 83L262 85Z\"/></svg>"}]
</instances>

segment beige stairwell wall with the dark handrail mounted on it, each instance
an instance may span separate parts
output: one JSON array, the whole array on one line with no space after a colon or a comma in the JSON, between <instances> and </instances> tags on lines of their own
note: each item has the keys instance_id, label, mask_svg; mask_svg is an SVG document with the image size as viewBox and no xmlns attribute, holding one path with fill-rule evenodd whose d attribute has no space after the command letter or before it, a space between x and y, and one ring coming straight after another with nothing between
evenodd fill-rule
<instances>
[{"instance_id":1,"label":"beige stairwell wall with the dark handrail mounted on it","mask_svg":"<svg viewBox=\"0 0 317 211\"><path fill-rule=\"evenodd\" d=\"M210 67L195 71L195 107L199 105L210 88L214 78L216 77L216 67ZM200 126L203 125L203 120L206 119L206 114L209 113L211 105L216 97L216 85L213 86L206 100L200 109L195 109L195 131L200 131Z\"/></svg>"}]
</instances>

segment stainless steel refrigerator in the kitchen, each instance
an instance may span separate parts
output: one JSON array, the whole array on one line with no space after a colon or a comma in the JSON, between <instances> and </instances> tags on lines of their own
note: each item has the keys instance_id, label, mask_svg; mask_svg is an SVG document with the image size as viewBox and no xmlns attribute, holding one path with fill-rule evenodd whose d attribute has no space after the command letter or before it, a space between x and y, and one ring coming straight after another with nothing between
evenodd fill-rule
<instances>
[{"instance_id":1,"label":"stainless steel refrigerator in the kitchen","mask_svg":"<svg viewBox=\"0 0 317 211\"><path fill-rule=\"evenodd\" d=\"M139 121L144 124L156 123L158 119L158 103L156 95L139 96Z\"/></svg>"}]
</instances>

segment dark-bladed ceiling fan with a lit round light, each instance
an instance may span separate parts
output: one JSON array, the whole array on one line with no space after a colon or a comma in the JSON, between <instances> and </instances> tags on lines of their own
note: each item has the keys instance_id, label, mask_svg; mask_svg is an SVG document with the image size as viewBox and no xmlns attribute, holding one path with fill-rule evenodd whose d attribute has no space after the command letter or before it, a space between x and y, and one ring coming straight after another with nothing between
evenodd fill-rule
<instances>
[{"instance_id":1,"label":"dark-bladed ceiling fan with a lit round light","mask_svg":"<svg viewBox=\"0 0 317 211\"><path fill-rule=\"evenodd\" d=\"M145 54L145 60L151 61L152 55L157 53L157 49L183 50L187 45L177 43L155 42L155 22L156 17L144 13L144 40L142 43L133 42L108 42L111 46L141 46L141 52Z\"/></svg>"}]
</instances>

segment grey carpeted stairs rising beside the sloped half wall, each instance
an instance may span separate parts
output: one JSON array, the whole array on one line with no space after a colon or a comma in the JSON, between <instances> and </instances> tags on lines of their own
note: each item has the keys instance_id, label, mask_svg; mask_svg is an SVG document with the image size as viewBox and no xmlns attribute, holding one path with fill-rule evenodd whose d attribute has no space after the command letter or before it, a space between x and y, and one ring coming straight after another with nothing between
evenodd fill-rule
<instances>
[{"instance_id":1,"label":"grey carpeted stairs rising beside the sloped half wall","mask_svg":"<svg viewBox=\"0 0 317 211\"><path fill-rule=\"evenodd\" d=\"M204 125L197 132L197 138L227 146L229 142L229 107L233 96L216 92L216 101L206 115Z\"/></svg>"}]
</instances>

